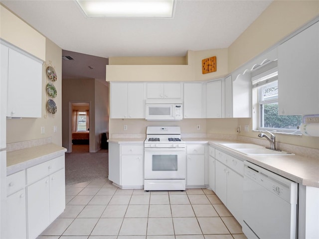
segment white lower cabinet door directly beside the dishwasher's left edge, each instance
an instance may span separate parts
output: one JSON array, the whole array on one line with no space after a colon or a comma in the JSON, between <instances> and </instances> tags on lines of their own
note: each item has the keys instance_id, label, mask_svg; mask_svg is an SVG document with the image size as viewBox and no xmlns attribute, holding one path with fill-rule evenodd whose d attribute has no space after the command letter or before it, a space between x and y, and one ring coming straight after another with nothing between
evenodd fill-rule
<instances>
[{"instance_id":1,"label":"white lower cabinet door directly beside the dishwasher's left edge","mask_svg":"<svg viewBox=\"0 0 319 239\"><path fill-rule=\"evenodd\" d=\"M244 178L228 168L227 173L227 209L242 225Z\"/></svg>"}]
</instances>

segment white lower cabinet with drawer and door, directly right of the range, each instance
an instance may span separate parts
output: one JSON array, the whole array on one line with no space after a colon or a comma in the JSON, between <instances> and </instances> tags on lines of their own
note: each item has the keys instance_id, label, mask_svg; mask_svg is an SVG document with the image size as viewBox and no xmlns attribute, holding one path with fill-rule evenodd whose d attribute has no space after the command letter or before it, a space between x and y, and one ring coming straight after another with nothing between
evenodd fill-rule
<instances>
[{"instance_id":1,"label":"white lower cabinet with drawer and door, directly right of the range","mask_svg":"<svg viewBox=\"0 0 319 239\"><path fill-rule=\"evenodd\" d=\"M205 145L186 145L186 186L203 187L205 185Z\"/></svg>"}]
</instances>

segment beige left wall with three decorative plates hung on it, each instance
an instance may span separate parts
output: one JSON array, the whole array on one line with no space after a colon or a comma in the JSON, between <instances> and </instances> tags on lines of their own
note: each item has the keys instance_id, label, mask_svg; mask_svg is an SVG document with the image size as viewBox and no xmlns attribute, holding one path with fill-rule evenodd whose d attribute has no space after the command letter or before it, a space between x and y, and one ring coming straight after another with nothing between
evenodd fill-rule
<instances>
[{"instance_id":1,"label":"beige left wall with three decorative plates hung on it","mask_svg":"<svg viewBox=\"0 0 319 239\"><path fill-rule=\"evenodd\" d=\"M46 111L46 84L48 82L46 76L46 66L42 66L42 117L41 118L22 118L22 119L7 119L6 142L20 142L31 139L39 139L51 137L52 142L57 145L62 145L62 49L54 44L49 39L46 39L45 46L46 64L51 62L57 73L57 81L53 82L57 97L54 102L57 106L57 113L51 115ZM52 83L52 82L51 82ZM32 92L30 92L32 94ZM30 106L32 107L32 106ZM45 133L41 134L41 126L45 127ZM53 132L53 126L57 126L57 132Z\"/></svg>"}]
</instances>

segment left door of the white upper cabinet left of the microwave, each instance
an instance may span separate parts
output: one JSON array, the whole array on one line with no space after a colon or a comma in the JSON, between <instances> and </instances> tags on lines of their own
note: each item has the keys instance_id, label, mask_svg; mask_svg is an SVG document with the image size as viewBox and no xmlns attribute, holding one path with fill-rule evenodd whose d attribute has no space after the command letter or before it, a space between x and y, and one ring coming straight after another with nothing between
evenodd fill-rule
<instances>
[{"instance_id":1,"label":"left door of the white upper cabinet left of the microwave","mask_svg":"<svg viewBox=\"0 0 319 239\"><path fill-rule=\"evenodd\" d=\"M128 118L128 83L111 83L111 118Z\"/></svg>"}]
</instances>

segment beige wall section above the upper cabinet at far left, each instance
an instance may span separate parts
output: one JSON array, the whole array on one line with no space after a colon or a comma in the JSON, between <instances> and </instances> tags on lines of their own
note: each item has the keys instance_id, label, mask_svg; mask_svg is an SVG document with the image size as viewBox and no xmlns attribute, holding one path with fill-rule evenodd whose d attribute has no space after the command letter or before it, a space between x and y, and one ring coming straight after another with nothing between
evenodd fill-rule
<instances>
[{"instance_id":1,"label":"beige wall section above the upper cabinet at far left","mask_svg":"<svg viewBox=\"0 0 319 239\"><path fill-rule=\"evenodd\" d=\"M46 60L45 37L0 5L0 37L24 51Z\"/></svg>"}]
</instances>

